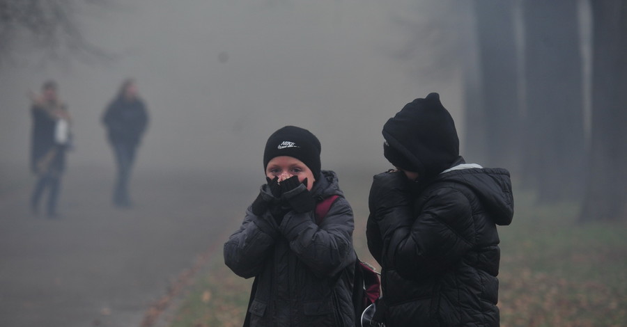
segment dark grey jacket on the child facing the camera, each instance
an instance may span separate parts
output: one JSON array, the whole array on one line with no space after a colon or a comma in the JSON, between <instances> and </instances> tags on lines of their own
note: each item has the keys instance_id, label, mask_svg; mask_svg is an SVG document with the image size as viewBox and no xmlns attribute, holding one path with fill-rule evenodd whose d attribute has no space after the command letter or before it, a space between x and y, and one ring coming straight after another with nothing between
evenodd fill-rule
<instances>
[{"instance_id":1,"label":"dark grey jacket on the child facing the camera","mask_svg":"<svg viewBox=\"0 0 627 327\"><path fill-rule=\"evenodd\" d=\"M244 278L257 277L251 326L354 326L353 210L332 171L311 189L317 200L338 195L316 225L314 212L288 212L277 225L269 212L253 214L224 244L224 262ZM271 196L268 185L262 192Z\"/></svg>"}]
</instances>

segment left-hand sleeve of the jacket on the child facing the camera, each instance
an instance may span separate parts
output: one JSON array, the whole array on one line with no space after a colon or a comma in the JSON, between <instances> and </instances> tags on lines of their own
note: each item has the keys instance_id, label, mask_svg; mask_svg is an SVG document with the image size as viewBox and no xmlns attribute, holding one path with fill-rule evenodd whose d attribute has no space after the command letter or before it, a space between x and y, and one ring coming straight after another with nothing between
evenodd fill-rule
<instances>
[{"instance_id":1,"label":"left-hand sleeve of the jacket on the child facing the camera","mask_svg":"<svg viewBox=\"0 0 627 327\"><path fill-rule=\"evenodd\" d=\"M277 223L270 213L256 216L249 207L239 230L224 244L224 263L238 276L254 277L263 269L277 237Z\"/></svg>"}]
</instances>

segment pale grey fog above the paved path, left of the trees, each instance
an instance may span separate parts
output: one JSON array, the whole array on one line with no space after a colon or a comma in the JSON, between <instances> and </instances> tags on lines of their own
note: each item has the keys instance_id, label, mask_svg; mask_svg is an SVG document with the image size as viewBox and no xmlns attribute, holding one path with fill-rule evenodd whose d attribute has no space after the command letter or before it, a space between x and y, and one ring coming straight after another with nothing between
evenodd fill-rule
<instances>
[{"instance_id":1,"label":"pale grey fog above the paved path, left of the trees","mask_svg":"<svg viewBox=\"0 0 627 327\"><path fill-rule=\"evenodd\" d=\"M465 55L458 27L470 22L448 1L134 0L103 7L80 7L80 27L113 61L70 55L51 63L30 49L1 67L3 166L26 168L25 95L45 79L59 82L74 120L70 173L72 166L113 165L100 115L126 77L137 79L150 112L137 170L261 175L266 138L297 125L320 138L323 168L376 173L389 166L383 123L430 92L440 93L463 135L461 70L440 56ZM426 38L408 54L417 33Z\"/></svg>"}]
</instances>

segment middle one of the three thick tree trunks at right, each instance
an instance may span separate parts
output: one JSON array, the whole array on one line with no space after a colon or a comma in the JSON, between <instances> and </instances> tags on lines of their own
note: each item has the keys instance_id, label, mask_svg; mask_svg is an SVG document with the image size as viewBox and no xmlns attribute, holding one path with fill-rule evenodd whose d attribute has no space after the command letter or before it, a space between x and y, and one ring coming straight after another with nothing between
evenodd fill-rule
<instances>
[{"instance_id":1,"label":"middle one of the three thick tree trunks at right","mask_svg":"<svg viewBox=\"0 0 627 327\"><path fill-rule=\"evenodd\" d=\"M540 202L582 194L585 138L577 3L525 0L525 169Z\"/></svg>"}]
</instances>

